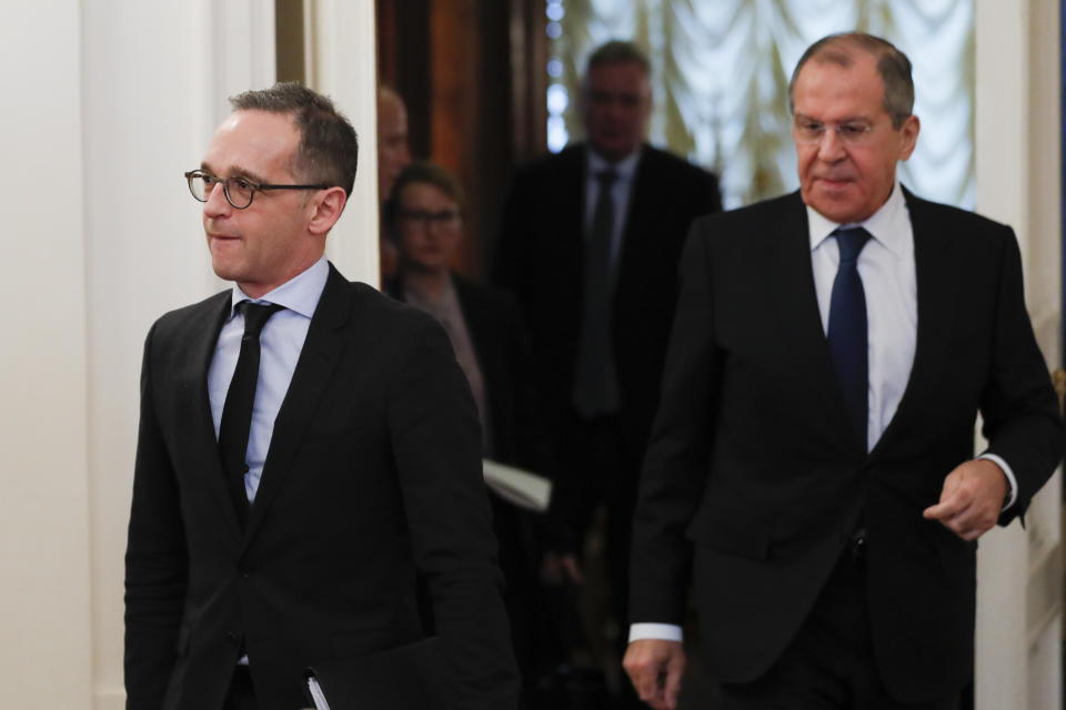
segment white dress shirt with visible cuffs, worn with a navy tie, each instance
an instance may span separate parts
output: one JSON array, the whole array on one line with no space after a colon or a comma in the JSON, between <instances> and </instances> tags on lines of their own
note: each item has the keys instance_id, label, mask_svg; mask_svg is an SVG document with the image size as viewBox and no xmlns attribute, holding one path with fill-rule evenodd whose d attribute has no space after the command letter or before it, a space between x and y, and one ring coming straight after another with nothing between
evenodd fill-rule
<instances>
[{"instance_id":1,"label":"white dress shirt with visible cuffs, worn with a navy tie","mask_svg":"<svg viewBox=\"0 0 1066 710\"><path fill-rule=\"evenodd\" d=\"M807 206L811 239L811 266L814 290L822 315L823 332L828 333L833 281L841 263L841 251L833 232L839 226L862 226L871 239L858 255L858 274L866 294L868 343L868 416L866 450L872 450L892 422L911 378L918 334L918 286L914 263L914 230L911 215L896 182L887 202L868 220L841 225ZM1002 457L982 454L1006 474L1010 495L1004 509L1014 505L1018 485L1014 471ZM944 471L946 476L949 471ZM681 627L671 623L634 623L630 641L652 638L682 640Z\"/></svg>"}]
</instances>

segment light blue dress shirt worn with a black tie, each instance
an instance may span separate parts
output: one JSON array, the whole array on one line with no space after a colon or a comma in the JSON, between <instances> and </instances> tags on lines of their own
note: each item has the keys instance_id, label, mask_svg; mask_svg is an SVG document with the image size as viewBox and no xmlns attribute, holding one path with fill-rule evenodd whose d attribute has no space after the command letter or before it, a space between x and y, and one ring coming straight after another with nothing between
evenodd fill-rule
<instances>
[{"instance_id":1,"label":"light blue dress shirt worn with a black tie","mask_svg":"<svg viewBox=\"0 0 1066 710\"><path fill-rule=\"evenodd\" d=\"M232 306L241 301L284 306L283 311L266 321L259 336L259 381L252 405L252 427L248 435L248 473L244 475L244 493L249 503L255 499L259 479L263 475L263 462L266 460L266 452L270 449L270 437L274 432L274 419L278 418L281 403L289 392L292 373L296 369L296 361L300 359L303 342L308 338L308 328L311 327L311 316L319 305L329 273L329 262L322 256L310 268L261 298L249 298L240 286L233 284L230 316L219 333L211 368L208 371L208 396L211 399L215 439L219 437L222 407L237 369L241 338L244 335L244 316Z\"/></svg>"}]
</instances>

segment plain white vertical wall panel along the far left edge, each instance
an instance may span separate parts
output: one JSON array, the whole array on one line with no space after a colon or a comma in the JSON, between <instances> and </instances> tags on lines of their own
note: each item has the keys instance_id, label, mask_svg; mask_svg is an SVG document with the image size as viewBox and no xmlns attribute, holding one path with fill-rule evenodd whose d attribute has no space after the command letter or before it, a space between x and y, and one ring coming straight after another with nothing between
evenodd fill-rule
<instances>
[{"instance_id":1,"label":"plain white vertical wall panel along the far left edge","mask_svg":"<svg viewBox=\"0 0 1066 710\"><path fill-rule=\"evenodd\" d=\"M7 3L0 21L0 704L9 708L84 708L92 682L78 8Z\"/></svg>"}]
</instances>

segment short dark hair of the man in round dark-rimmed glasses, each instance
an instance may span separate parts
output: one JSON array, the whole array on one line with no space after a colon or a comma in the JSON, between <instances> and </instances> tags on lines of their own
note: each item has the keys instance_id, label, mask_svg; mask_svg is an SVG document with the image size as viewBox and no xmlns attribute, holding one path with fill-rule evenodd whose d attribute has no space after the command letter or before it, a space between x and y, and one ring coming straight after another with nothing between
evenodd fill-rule
<instances>
[{"instance_id":1,"label":"short dark hair of the man in round dark-rimmed glasses","mask_svg":"<svg viewBox=\"0 0 1066 710\"><path fill-rule=\"evenodd\" d=\"M293 173L305 182L344 187L351 196L359 164L359 140L355 129L328 97L288 81L230 97L230 105L234 111L291 115L300 131L300 146L291 165Z\"/></svg>"}]
</instances>

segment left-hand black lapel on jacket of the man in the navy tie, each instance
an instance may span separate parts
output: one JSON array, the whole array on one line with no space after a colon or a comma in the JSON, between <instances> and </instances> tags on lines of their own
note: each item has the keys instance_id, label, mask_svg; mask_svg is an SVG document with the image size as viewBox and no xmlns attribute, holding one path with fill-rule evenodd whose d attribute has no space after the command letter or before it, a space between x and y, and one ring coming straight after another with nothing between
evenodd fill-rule
<instances>
[{"instance_id":1,"label":"left-hand black lapel on jacket of the man in the navy tie","mask_svg":"<svg viewBox=\"0 0 1066 710\"><path fill-rule=\"evenodd\" d=\"M786 209L780 211L776 224L767 229L767 281L774 284L782 355L791 366L805 368L809 396L815 410L826 414L826 436L839 446L855 450L859 445L851 435L844 400L836 384L828 341L818 313L818 298L811 265L811 233L807 211L793 193Z\"/></svg>"}]
</instances>

